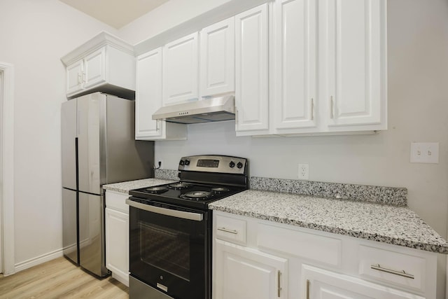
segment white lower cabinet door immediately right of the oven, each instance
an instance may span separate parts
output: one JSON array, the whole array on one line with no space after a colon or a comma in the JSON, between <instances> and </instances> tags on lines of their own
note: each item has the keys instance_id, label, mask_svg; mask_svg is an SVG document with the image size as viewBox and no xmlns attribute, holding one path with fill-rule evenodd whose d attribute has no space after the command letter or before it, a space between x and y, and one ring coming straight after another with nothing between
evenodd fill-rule
<instances>
[{"instance_id":1,"label":"white lower cabinet door immediately right of the oven","mask_svg":"<svg viewBox=\"0 0 448 299\"><path fill-rule=\"evenodd\" d=\"M216 239L214 299L288 297L288 260Z\"/></svg>"}]
</instances>

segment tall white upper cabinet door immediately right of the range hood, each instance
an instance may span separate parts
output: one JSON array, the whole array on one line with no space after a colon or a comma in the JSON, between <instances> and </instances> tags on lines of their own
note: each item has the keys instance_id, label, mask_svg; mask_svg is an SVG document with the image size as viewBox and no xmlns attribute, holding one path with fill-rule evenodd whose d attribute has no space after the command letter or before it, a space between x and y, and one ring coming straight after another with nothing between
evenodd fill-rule
<instances>
[{"instance_id":1,"label":"tall white upper cabinet door immediately right of the range hood","mask_svg":"<svg viewBox=\"0 0 448 299\"><path fill-rule=\"evenodd\" d=\"M267 130L268 5L235 16L236 130Z\"/></svg>"}]
</instances>

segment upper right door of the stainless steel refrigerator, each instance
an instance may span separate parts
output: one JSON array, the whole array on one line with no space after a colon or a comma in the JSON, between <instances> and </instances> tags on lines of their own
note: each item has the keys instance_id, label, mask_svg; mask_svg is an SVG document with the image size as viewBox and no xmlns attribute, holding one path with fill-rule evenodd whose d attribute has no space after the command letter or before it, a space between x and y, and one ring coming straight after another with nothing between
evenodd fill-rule
<instances>
[{"instance_id":1,"label":"upper right door of the stainless steel refrigerator","mask_svg":"<svg viewBox=\"0 0 448 299\"><path fill-rule=\"evenodd\" d=\"M95 92L77 100L79 190L101 194L106 181L106 95Z\"/></svg>"}]
</instances>

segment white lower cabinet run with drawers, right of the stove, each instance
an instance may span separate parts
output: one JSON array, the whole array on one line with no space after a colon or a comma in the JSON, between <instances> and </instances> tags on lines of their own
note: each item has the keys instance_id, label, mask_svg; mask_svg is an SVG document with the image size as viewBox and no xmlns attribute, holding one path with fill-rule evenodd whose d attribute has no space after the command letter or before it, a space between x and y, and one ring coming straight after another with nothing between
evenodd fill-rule
<instances>
[{"instance_id":1,"label":"white lower cabinet run with drawers, right of the stove","mask_svg":"<svg viewBox=\"0 0 448 299\"><path fill-rule=\"evenodd\" d=\"M441 254L214 211L213 299L442 299Z\"/></svg>"}]
</instances>

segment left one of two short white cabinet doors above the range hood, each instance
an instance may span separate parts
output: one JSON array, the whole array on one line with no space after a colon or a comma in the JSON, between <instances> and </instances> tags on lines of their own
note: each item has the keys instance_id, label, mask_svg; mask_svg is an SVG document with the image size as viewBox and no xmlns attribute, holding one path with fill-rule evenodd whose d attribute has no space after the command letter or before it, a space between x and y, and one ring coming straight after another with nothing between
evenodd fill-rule
<instances>
[{"instance_id":1,"label":"left one of two short white cabinet doors above the range hood","mask_svg":"<svg viewBox=\"0 0 448 299\"><path fill-rule=\"evenodd\" d=\"M197 32L163 47L163 105L178 104L198 98Z\"/></svg>"}]
</instances>

